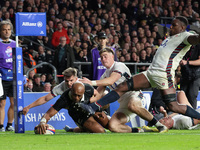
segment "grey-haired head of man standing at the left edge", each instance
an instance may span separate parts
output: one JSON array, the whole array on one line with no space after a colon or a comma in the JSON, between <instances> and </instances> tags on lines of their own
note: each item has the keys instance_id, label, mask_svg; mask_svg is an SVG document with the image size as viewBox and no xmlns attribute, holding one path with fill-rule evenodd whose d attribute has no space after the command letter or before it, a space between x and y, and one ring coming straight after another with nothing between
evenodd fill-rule
<instances>
[{"instance_id":1,"label":"grey-haired head of man standing at the left edge","mask_svg":"<svg viewBox=\"0 0 200 150\"><path fill-rule=\"evenodd\" d=\"M9 21L0 22L0 36L2 40L8 40L11 36L13 25Z\"/></svg>"}]
</instances>

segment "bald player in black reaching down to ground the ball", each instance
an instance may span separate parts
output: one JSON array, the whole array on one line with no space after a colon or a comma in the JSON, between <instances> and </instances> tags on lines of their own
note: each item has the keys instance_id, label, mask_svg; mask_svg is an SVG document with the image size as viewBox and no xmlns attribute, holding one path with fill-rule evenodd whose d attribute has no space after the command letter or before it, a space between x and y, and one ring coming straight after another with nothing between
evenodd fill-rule
<instances>
[{"instance_id":1,"label":"bald player in black reaching down to ground the ball","mask_svg":"<svg viewBox=\"0 0 200 150\"><path fill-rule=\"evenodd\" d=\"M68 109L69 115L80 127L80 129L77 128L75 131L104 133L104 127L106 127L108 123L107 116L102 114L98 115L98 117L94 117L95 112L93 110L87 109L87 107L82 108L80 106L82 103L89 103L90 98L92 98L93 95L94 88L92 86L81 82L75 82L72 85L72 88L66 90L56 103L44 114L37 127L37 133L44 134L49 119L58 113L62 108ZM103 122L104 124L102 124L103 126L95 120L98 120L100 117L103 117L103 120L105 121Z\"/></svg>"}]
</instances>

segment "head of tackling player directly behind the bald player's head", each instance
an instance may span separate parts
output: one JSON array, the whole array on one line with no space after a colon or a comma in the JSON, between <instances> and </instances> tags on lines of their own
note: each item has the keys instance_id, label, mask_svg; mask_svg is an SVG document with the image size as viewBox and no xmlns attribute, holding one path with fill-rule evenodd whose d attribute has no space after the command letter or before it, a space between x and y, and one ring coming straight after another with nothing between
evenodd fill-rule
<instances>
[{"instance_id":1,"label":"head of tackling player directly behind the bald player's head","mask_svg":"<svg viewBox=\"0 0 200 150\"><path fill-rule=\"evenodd\" d=\"M78 80L77 70L75 68L67 68L62 73L64 75L64 80L68 88L72 87L72 84Z\"/></svg>"}]
</instances>

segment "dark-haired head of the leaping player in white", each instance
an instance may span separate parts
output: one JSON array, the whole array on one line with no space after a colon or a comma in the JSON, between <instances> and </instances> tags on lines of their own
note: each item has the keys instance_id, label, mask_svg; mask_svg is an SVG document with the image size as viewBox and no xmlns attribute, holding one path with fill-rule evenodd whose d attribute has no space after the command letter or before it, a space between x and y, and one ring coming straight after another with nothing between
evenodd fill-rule
<instances>
[{"instance_id":1,"label":"dark-haired head of the leaping player in white","mask_svg":"<svg viewBox=\"0 0 200 150\"><path fill-rule=\"evenodd\" d=\"M170 35L175 35L184 32L187 28L188 20L183 16L178 16L172 21L170 26Z\"/></svg>"}]
</instances>

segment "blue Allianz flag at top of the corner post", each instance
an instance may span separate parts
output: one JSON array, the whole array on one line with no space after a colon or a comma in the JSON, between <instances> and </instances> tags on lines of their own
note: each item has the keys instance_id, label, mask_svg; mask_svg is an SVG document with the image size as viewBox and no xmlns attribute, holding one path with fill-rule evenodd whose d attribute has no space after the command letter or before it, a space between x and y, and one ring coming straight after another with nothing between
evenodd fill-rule
<instances>
[{"instance_id":1,"label":"blue Allianz flag at top of the corner post","mask_svg":"<svg viewBox=\"0 0 200 150\"><path fill-rule=\"evenodd\" d=\"M16 36L46 36L46 13L16 13Z\"/></svg>"}]
</instances>

